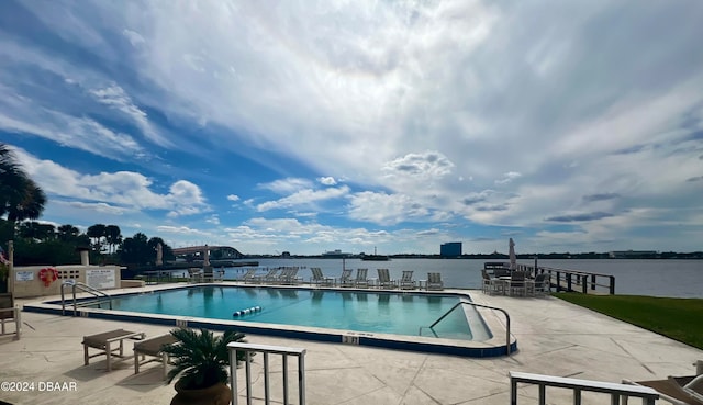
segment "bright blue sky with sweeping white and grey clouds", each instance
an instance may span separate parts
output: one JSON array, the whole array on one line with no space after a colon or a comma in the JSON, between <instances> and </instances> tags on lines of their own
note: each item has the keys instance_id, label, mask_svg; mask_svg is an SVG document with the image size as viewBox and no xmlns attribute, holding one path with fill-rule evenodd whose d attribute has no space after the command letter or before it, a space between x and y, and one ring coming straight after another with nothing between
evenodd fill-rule
<instances>
[{"instance_id":1,"label":"bright blue sky with sweeping white and grey clouds","mask_svg":"<svg viewBox=\"0 0 703 405\"><path fill-rule=\"evenodd\" d=\"M693 251L703 2L2 1L42 221L248 254Z\"/></svg>"}]
</instances>

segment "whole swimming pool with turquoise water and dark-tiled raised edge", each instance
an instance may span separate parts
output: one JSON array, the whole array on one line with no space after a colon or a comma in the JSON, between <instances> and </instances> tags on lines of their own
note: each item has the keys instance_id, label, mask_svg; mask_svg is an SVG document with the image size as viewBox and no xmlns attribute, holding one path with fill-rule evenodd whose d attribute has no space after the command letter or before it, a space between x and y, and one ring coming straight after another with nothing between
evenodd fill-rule
<instances>
[{"instance_id":1,"label":"whole swimming pool with turquoise water and dark-tiled raised edge","mask_svg":"<svg viewBox=\"0 0 703 405\"><path fill-rule=\"evenodd\" d=\"M428 328L460 301L470 297L223 283L115 294L112 310L79 307L77 315L467 357L505 355L504 338L502 344L495 339L470 305L459 305ZM24 311L60 314L62 306L51 301L25 304ZM515 349L513 341L511 351Z\"/></svg>"}]
</instances>

